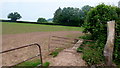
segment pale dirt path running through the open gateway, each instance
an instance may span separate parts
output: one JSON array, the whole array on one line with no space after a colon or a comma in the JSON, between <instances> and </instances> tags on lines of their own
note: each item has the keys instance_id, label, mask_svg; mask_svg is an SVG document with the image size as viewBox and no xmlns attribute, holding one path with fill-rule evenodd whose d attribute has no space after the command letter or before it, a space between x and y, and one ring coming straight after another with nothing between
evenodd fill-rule
<instances>
[{"instance_id":1,"label":"pale dirt path running through the open gateway","mask_svg":"<svg viewBox=\"0 0 120 68\"><path fill-rule=\"evenodd\" d=\"M73 47L64 49L57 57L48 58L46 61L50 62L50 66L87 66L81 57L82 54L76 51L82 42L79 40Z\"/></svg>"}]
</instances>

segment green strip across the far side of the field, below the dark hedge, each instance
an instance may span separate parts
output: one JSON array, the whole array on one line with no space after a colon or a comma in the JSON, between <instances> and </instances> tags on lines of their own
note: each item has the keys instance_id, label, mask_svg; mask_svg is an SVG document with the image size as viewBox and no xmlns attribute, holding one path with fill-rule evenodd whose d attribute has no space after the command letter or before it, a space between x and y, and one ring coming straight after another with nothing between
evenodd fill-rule
<instances>
[{"instance_id":1,"label":"green strip across the far side of the field, below the dark hedge","mask_svg":"<svg viewBox=\"0 0 120 68\"><path fill-rule=\"evenodd\" d=\"M81 27L2 22L2 34L19 34L45 31L82 31L82 30L83 28Z\"/></svg>"}]
</instances>

